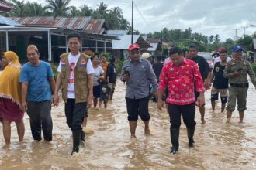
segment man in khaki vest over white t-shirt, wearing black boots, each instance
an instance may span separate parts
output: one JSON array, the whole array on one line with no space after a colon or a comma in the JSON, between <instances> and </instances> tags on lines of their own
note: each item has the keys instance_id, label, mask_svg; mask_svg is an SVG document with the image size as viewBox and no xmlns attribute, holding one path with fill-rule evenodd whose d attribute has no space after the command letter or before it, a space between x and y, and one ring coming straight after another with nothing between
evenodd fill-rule
<instances>
[{"instance_id":1,"label":"man in khaki vest over white t-shirt, wearing black boots","mask_svg":"<svg viewBox=\"0 0 256 170\"><path fill-rule=\"evenodd\" d=\"M85 141L85 132L81 124L88 117L86 107L92 105L92 74L94 73L89 56L80 53L81 36L71 33L67 36L68 47L71 53L61 55L57 71L57 83L54 91L54 105L58 106L58 90L61 88L65 102L67 124L73 134L73 150L79 151L80 141Z\"/></svg>"}]
</instances>

